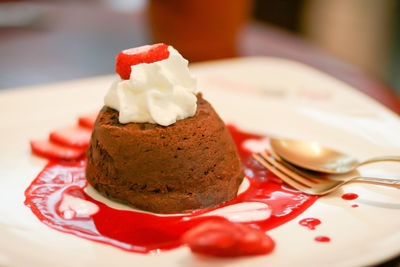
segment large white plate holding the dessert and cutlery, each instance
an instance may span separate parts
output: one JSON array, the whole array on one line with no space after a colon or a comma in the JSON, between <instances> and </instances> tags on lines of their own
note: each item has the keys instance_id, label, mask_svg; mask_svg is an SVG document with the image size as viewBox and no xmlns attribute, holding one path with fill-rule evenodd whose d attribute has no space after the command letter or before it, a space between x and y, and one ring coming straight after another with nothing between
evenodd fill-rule
<instances>
[{"instance_id":1,"label":"large white plate holding the dessert and cutlery","mask_svg":"<svg viewBox=\"0 0 400 267\"><path fill-rule=\"evenodd\" d=\"M222 118L265 135L315 140L359 159L400 154L397 115L348 85L305 65L276 58L243 58L193 65L199 86ZM74 124L99 109L113 76L6 90L0 93L1 266L354 266L400 252L400 190L350 184L320 198L298 218L269 234L267 256L202 259L181 247L158 255L128 253L53 230L25 207L24 190L45 160L29 140ZM363 167L362 174L400 179L400 164ZM341 199L344 192L359 195ZM351 204L357 203L358 208ZM302 218L316 217L314 231ZM317 235L329 243L314 241Z\"/></svg>"}]
</instances>

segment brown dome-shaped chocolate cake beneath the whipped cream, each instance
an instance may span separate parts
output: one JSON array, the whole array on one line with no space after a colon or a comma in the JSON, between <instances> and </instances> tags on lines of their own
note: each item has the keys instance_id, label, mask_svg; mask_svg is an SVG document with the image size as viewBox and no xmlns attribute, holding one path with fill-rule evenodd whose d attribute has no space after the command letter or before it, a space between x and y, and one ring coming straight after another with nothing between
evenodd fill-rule
<instances>
[{"instance_id":1,"label":"brown dome-shaped chocolate cake beneath the whipped cream","mask_svg":"<svg viewBox=\"0 0 400 267\"><path fill-rule=\"evenodd\" d=\"M197 95L195 116L164 127L120 124L103 107L87 151L86 177L104 195L156 213L209 208L233 199L244 173L212 106Z\"/></svg>"}]
</instances>

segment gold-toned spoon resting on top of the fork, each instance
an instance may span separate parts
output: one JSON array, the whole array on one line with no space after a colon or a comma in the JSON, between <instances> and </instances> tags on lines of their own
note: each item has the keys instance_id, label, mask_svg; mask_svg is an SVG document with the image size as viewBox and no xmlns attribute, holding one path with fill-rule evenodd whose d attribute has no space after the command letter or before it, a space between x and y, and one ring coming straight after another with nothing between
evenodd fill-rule
<instances>
[{"instance_id":1,"label":"gold-toned spoon resting on top of the fork","mask_svg":"<svg viewBox=\"0 0 400 267\"><path fill-rule=\"evenodd\" d=\"M346 173L378 161L400 161L400 156L384 156L359 162L356 158L316 142L271 138L271 148L284 160L304 169L323 173Z\"/></svg>"}]
</instances>

